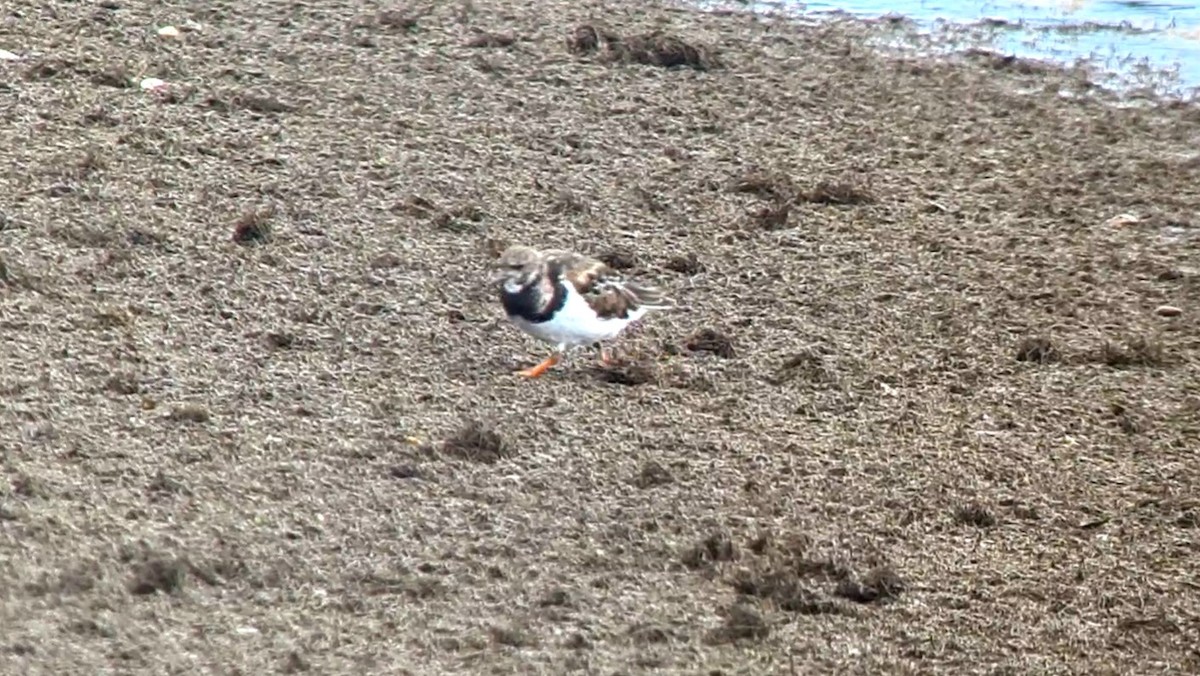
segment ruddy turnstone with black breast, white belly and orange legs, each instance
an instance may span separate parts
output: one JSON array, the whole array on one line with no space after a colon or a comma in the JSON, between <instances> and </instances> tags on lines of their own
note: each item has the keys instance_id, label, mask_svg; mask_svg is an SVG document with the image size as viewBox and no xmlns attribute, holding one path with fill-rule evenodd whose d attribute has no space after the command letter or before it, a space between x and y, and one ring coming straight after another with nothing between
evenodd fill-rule
<instances>
[{"instance_id":1,"label":"ruddy turnstone with black breast, white belly and orange legs","mask_svg":"<svg viewBox=\"0 0 1200 676\"><path fill-rule=\"evenodd\" d=\"M536 378L558 364L569 348L600 346L617 337L650 310L671 307L658 288L623 279L600 261L570 251L510 246L496 261L496 283L509 319L522 331L554 345L536 366L517 371Z\"/></svg>"}]
</instances>

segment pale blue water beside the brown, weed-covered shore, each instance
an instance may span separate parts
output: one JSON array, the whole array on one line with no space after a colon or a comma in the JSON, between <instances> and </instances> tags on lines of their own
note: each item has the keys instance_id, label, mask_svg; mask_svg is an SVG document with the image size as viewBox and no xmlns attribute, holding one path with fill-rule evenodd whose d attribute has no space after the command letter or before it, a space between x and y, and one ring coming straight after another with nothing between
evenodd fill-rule
<instances>
[{"instance_id":1,"label":"pale blue water beside the brown, weed-covered shore","mask_svg":"<svg viewBox=\"0 0 1200 676\"><path fill-rule=\"evenodd\" d=\"M857 18L902 16L942 47L970 47L1074 65L1086 62L1115 90L1200 94L1200 1L822 0L740 4L768 12ZM941 38L938 40L938 36ZM930 44L929 41L925 44Z\"/></svg>"}]
</instances>

